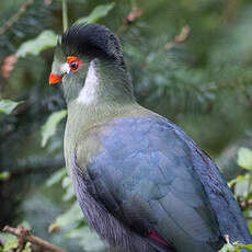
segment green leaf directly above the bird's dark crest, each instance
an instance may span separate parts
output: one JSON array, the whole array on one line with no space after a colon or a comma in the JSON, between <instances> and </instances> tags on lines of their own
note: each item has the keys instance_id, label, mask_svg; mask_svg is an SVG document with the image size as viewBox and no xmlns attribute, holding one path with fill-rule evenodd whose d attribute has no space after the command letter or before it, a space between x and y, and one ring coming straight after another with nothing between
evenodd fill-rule
<instances>
[{"instance_id":1,"label":"green leaf directly above the bird's dark crest","mask_svg":"<svg viewBox=\"0 0 252 252\"><path fill-rule=\"evenodd\" d=\"M98 5L88 16L80 18L76 23L96 23L99 20L106 16L114 7L115 2Z\"/></svg>"}]
</instances>

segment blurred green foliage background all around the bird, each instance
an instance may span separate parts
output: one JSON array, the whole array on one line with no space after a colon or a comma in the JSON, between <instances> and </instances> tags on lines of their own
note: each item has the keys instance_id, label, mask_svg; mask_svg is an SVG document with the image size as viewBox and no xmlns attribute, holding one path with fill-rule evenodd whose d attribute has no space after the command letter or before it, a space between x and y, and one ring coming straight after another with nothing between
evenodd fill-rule
<instances>
[{"instance_id":1,"label":"blurred green foliage background all around the bird","mask_svg":"<svg viewBox=\"0 0 252 252\"><path fill-rule=\"evenodd\" d=\"M67 3L69 24L83 19L117 34L138 102L213 157L252 227L251 0ZM0 228L23 222L68 251L98 252L106 245L87 228L64 169L62 92L47 84L61 4L0 1Z\"/></svg>"}]
</instances>

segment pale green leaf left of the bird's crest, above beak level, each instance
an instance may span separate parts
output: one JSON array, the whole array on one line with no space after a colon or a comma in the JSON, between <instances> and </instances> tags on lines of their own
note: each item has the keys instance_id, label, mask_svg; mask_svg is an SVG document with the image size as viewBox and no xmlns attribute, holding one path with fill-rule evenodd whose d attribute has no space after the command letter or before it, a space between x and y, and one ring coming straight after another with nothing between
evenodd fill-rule
<instances>
[{"instance_id":1,"label":"pale green leaf left of the bird's crest, above beak level","mask_svg":"<svg viewBox=\"0 0 252 252\"><path fill-rule=\"evenodd\" d=\"M25 57L27 55L38 55L45 49L55 47L57 44L57 35L54 31L43 31L34 39L24 42L16 51L16 57Z\"/></svg>"}]
</instances>

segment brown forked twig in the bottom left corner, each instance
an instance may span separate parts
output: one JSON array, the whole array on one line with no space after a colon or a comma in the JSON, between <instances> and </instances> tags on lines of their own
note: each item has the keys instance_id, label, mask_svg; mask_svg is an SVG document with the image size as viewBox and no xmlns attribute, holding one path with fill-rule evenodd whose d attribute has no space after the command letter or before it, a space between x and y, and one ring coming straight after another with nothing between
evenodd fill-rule
<instances>
[{"instance_id":1,"label":"brown forked twig in the bottom left corner","mask_svg":"<svg viewBox=\"0 0 252 252\"><path fill-rule=\"evenodd\" d=\"M18 252L22 251L22 248L26 242L31 242L32 244L39 245L39 247L44 248L45 250L48 250L51 252L66 252L65 250L60 249L59 247L54 245L54 244L49 243L48 241L45 241L38 237L31 234L31 230L28 230L22 226L18 226L18 228L12 228L12 227L5 226L2 229L2 231L9 232L9 233L18 237Z\"/></svg>"}]
</instances>

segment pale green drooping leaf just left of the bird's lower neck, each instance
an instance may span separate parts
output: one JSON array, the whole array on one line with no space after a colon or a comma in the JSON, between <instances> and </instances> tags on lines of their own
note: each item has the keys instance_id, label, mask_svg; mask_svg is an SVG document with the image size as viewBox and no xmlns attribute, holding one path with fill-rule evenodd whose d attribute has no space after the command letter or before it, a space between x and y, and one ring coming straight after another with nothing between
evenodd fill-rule
<instances>
[{"instance_id":1,"label":"pale green drooping leaf just left of the bird's lower neck","mask_svg":"<svg viewBox=\"0 0 252 252\"><path fill-rule=\"evenodd\" d=\"M66 117L67 111L54 112L42 126L42 147L45 147L51 136L55 135L58 124Z\"/></svg>"}]
</instances>

